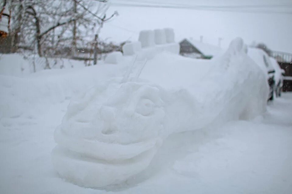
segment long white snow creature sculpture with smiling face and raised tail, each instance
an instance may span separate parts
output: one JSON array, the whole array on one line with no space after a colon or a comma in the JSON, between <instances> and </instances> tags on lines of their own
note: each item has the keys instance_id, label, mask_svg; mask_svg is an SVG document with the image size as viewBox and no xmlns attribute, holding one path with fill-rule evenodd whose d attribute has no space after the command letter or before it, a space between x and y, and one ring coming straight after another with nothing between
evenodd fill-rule
<instances>
[{"instance_id":1,"label":"long white snow creature sculpture with smiling face and raised tail","mask_svg":"<svg viewBox=\"0 0 292 194\"><path fill-rule=\"evenodd\" d=\"M54 133L52 161L61 177L85 187L119 184L144 170L170 134L265 111L265 75L241 38L214 60L160 53L139 75L72 99Z\"/></svg>"}]
</instances>

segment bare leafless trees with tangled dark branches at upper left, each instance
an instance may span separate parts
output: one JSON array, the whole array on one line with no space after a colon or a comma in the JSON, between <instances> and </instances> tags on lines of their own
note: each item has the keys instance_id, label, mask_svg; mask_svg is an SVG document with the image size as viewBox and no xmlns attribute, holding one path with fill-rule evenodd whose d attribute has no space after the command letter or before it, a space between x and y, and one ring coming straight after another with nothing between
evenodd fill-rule
<instances>
[{"instance_id":1,"label":"bare leafless trees with tangled dark branches at upper left","mask_svg":"<svg viewBox=\"0 0 292 194\"><path fill-rule=\"evenodd\" d=\"M36 45L43 56L48 50L71 45L73 55L78 45L86 45L98 34L104 23L117 15L106 17L106 0L8 0L12 12L9 35L12 48L19 44ZM55 41L57 40L57 41ZM46 52L45 52L46 51Z\"/></svg>"}]
</instances>

